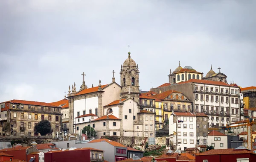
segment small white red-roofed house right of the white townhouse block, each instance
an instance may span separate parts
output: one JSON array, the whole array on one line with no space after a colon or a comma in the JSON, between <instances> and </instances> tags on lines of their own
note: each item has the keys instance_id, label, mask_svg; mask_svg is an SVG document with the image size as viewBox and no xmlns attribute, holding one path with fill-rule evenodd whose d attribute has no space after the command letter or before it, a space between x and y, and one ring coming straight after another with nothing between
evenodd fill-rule
<instances>
[{"instance_id":1,"label":"small white red-roofed house right of the white townhouse block","mask_svg":"<svg viewBox=\"0 0 256 162\"><path fill-rule=\"evenodd\" d=\"M208 145L214 147L214 149L226 149L227 148L227 135L213 130L208 133Z\"/></svg>"}]
</instances>

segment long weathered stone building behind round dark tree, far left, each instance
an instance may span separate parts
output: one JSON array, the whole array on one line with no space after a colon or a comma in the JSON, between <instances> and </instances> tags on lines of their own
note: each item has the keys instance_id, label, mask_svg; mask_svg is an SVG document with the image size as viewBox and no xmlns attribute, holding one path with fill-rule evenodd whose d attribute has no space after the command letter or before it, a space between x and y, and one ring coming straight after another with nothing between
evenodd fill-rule
<instances>
[{"instance_id":1,"label":"long weathered stone building behind round dark tree, far left","mask_svg":"<svg viewBox=\"0 0 256 162\"><path fill-rule=\"evenodd\" d=\"M34 127L41 120L51 123L52 132L61 131L61 108L45 102L11 100L0 103L1 114L6 117L1 122L1 136L38 136ZM49 134L51 134L49 133Z\"/></svg>"}]
</instances>

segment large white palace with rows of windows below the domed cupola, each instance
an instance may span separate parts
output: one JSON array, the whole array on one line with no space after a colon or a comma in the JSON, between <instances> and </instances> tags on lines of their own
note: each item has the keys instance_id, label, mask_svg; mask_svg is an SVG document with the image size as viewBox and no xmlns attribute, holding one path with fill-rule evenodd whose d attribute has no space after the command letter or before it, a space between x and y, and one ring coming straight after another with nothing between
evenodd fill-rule
<instances>
[{"instance_id":1,"label":"large white palace with rows of windows below the domed cupola","mask_svg":"<svg viewBox=\"0 0 256 162\"><path fill-rule=\"evenodd\" d=\"M151 90L156 93L168 90L182 92L192 101L193 111L207 114L209 127L228 126L243 119L243 105L239 99L242 94L236 84L190 79Z\"/></svg>"}]
</instances>

